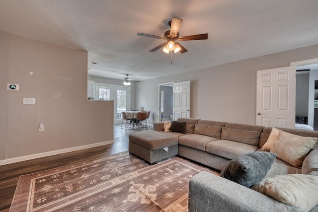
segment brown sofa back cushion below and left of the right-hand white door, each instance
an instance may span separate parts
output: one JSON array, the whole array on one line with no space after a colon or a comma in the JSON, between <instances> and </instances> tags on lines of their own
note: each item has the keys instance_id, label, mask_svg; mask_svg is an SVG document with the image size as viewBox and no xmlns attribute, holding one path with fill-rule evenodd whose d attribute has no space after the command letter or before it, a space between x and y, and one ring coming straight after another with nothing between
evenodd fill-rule
<instances>
[{"instance_id":1,"label":"brown sofa back cushion below and left of the right-hand white door","mask_svg":"<svg viewBox=\"0 0 318 212\"><path fill-rule=\"evenodd\" d=\"M241 143L246 143L254 146L259 146L259 136L258 131L249 131L243 129L227 128L222 129L221 139L238 141Z\"/></svg>"}]
</instances>

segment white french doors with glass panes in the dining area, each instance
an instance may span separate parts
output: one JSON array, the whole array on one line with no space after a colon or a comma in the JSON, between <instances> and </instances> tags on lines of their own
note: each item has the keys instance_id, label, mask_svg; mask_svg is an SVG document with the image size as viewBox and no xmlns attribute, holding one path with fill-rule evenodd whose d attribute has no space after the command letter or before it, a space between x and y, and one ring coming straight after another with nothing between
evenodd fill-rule
<instances>
[{"instance_id":1,"label":"white french doors with glass panes in the dining area","mask_svg":"<svg viewBox=\"0 0 318 212\"><path fill-rule=\"evenodd\" d=\"M130 110L130 87L95 83L95 99L114 101L114 124L121 124L121 112Z\"/></svg>"}]
</instances>

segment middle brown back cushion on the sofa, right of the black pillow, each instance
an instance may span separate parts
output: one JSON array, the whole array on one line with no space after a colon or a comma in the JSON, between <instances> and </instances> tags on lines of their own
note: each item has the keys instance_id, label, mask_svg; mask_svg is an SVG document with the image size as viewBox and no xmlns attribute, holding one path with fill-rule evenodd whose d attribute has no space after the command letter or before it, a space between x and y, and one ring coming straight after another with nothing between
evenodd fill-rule
<instances>
[{"instance_id":1,"label":"middle brown back cushion on the sofa, right of the black pillow","mask_svg":"<svg viewBox=\"0 0 318 212\"><path fill-rule=\"evenodd\" d=\"M194 133L221 139L222 127L226 122L200 120L194 127Z\"/></svg>"}]
</instances>

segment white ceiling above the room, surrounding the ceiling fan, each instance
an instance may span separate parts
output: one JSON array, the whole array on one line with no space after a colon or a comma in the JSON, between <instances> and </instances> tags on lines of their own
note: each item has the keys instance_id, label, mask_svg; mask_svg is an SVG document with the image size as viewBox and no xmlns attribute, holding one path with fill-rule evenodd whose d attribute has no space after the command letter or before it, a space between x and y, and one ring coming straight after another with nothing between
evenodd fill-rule
<instances>
[{"instance_id":1,"label":"white ceiling above the room, surrounding the ceiling fan","mask_svg":"<svg viewBox=\"0 0 318 212\"><path fill-rule=\"evenodd\" d=\"M149 50L171 17L188 50ZM89 74L145 80L318 44L318 0L0 0L0 31L88 51ZM97 62L93 65L90 62Z\"/></svg>"}]
</instances>

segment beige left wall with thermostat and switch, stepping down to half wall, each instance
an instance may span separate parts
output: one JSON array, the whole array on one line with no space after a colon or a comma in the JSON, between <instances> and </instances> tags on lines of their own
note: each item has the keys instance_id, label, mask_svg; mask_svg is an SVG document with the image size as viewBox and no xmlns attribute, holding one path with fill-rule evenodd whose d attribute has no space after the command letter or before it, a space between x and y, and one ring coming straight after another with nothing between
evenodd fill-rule
<instances>
[{"instance_id":1,"label":"beige left wall with thermostat and switch, stepping down to half wall","mask_svg":"<svg viewBox=\"0 0 318 212\"><path fill-rule=\"evenodd\" d=\"M113 140L113 102L86 100L87 52L0 32L0 69L0 160Z\"/></svg>"}]
</instances>

